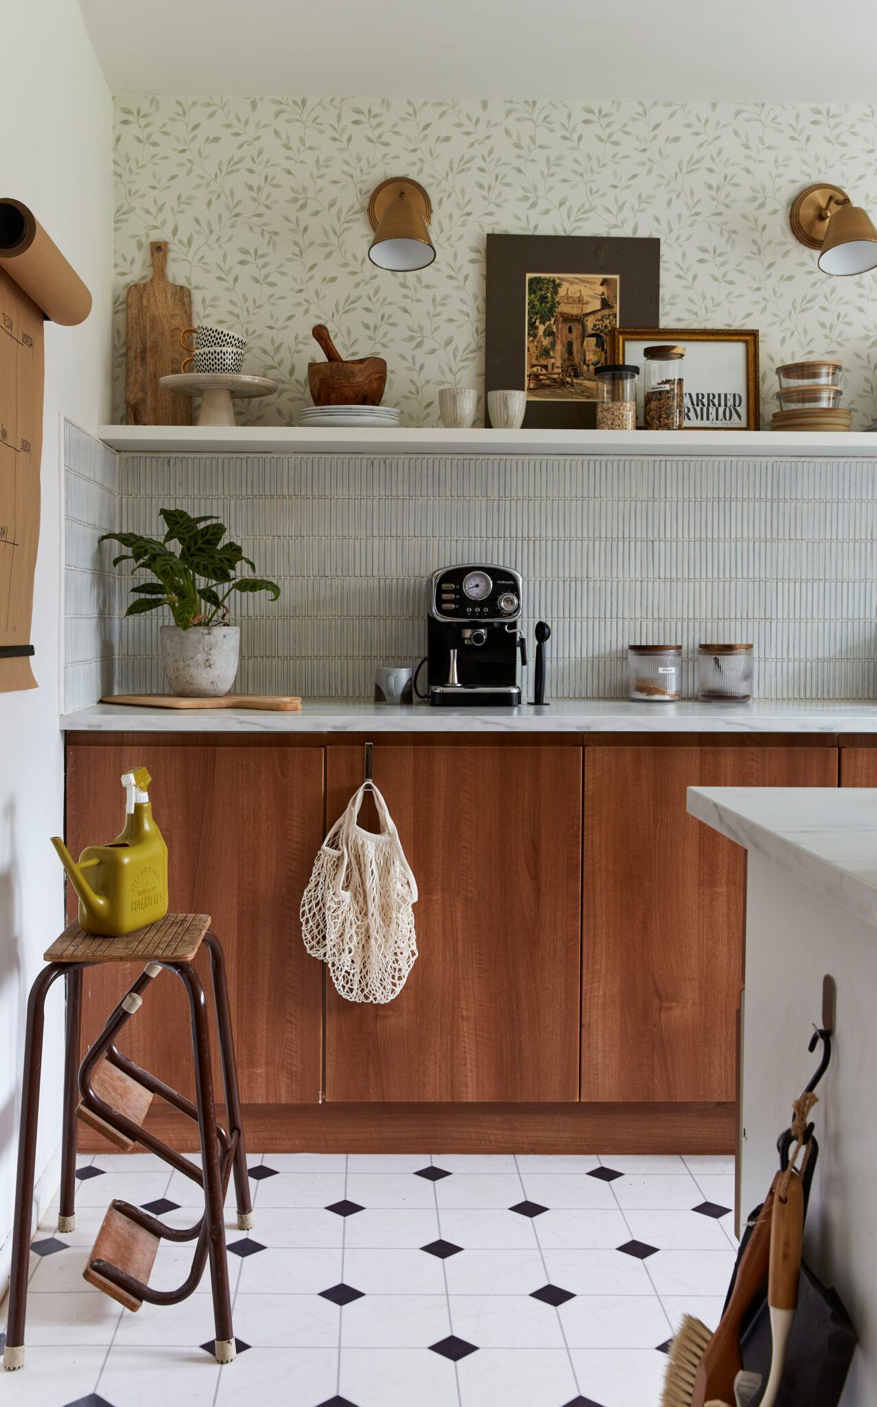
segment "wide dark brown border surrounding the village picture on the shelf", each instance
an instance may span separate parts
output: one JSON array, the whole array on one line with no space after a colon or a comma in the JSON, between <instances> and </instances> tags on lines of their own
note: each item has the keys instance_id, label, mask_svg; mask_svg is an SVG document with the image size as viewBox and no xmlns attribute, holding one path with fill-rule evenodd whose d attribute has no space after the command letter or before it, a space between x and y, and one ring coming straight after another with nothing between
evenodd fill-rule
<instances>
[{"instance_id":1,"label":"wide dark brown border surrounding the village picture on the shelf","mask_svg":"<svg viewBox=\"0 0 877 1407\"><path fill-rule=\"evenodd\" d=\"M621 279L619 317L657 328L660 239L600 235L487 235L486 391L526 390L526 274L595 274ZM594 401L528 401L525 429L593 429ZM490 425L487 397L484 424Z\"/></svg>"}]
</instances>

